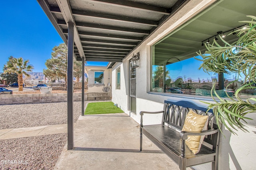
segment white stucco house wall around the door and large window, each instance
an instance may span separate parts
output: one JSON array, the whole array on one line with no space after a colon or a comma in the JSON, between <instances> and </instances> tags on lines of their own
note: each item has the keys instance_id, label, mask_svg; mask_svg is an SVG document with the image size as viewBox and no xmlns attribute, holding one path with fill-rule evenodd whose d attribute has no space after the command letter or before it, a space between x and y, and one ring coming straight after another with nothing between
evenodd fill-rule
<instances>
[{"instance_id":1,"label":"white stucco house wall around the door and large window","mask_svg":"<svg viewBox=\"0 0 256 170\"><path fill-rule=\"evenodd\" d=\"M212 102L207 97L193 97L189 95L164 95L154 94L150 92L150 45L157 42L159 39L174 31L177 27L190 20L193 16L205 9L207 6L215 2L215 0L191 0L184 8L176 13L172 19L166 21L144 41L133 53L140 52L140 66L136 68L136 112L137 114L130 113L128 110L128 96L129 96L129 63L132 55L128 56L122 64L117 63L112 67L112 101L133 117L135 121L140 122L139 112L145 111L159 111L163 109L164 100L188 100L196 103L198 106L205 106L199 100L206 100ZM121 85L120 90L115 89L115 76L116 68L121 68ZM256 114L249 115L251 118L256 119ZM144 124L160 123L162 115L146 115L144 116ZM221 135L220 153L219 153L219 169L220 170L248 170L255 169L256 163L254 157L256 156L256 121L248 121L249 133L238 131L238 136L232 135L225 128L222 129L224 135ZM139 132L138 132L139 134ZM139 137L139 136L138 136ZM193 167L196 170L211 169L211 164L204 164Z\"/></svg>"}]
</instances>

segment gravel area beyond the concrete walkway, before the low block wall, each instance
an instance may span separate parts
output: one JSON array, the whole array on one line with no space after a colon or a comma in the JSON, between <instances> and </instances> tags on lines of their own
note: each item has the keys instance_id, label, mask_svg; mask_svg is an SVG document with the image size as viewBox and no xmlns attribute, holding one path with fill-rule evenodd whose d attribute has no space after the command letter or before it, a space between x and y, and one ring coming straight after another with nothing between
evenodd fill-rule
<instances>
[{"instance_id":1,"label":"gravel area beyond the concrete walkway, before the low block wall","mask_svg":"<svg viewBox=\"0 0 256 170\"><path fill-rule=\"evenodd\" d=\"M85 101L84 106L89 102ZM108 101L109 102L109 101ZM81 115L81 102L74 102L74 122ZM67 123L67 102L0 105L0 129Z\"/></svg>"}]
</instances>

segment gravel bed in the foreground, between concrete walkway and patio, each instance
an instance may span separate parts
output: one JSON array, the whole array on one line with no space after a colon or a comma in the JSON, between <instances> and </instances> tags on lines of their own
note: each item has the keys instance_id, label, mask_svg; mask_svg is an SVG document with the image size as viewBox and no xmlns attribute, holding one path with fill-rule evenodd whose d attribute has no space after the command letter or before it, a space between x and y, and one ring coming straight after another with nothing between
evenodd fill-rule
<instances>
[{"instance_id":1,"label":"gravel bed in the foreground, between concrete walkway and patio","mask_svg":"<svg viewBox=\"0 0 256 170\"><path fill-rule=\"evenodd\" d=\"M0 169L52 170L66 141L66 133L0 140Z\"/></svg>"}]
</instances>

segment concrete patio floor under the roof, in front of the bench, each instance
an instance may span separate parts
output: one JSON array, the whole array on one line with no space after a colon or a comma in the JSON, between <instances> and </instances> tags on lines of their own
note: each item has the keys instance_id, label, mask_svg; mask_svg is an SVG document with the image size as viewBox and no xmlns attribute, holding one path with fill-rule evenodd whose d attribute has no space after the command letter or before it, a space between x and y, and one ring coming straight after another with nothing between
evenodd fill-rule
<instances>
[{"instance_id":1,"label":"concrete patio floor under the roof, in front of the bench","mask_svg":"<svg viewBox=\"0 0 256 170\"><path fill-rule=\"evenodd\" d=\"M55 170L179 170L143 136L125 113L80 116L74 126L74 150L64 147Z\"/></svg>"}]
</instances>

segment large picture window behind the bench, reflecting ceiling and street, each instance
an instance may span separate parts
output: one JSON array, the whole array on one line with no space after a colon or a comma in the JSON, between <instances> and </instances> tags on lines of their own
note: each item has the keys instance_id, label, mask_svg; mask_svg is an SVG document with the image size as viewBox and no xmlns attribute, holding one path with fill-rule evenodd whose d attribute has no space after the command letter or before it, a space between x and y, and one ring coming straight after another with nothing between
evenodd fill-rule
<instances>
[{"instance_id":1,"label":"large picture window behind the bench, reflecting ceiling and street","mask_svg":"<svg viewBox=\"0 0 256 170\"><path fill-rule=\"evenodd\" d=\"M243 29L242 26L244 25L239 25L241 24L239 21L247 21L248 18L239 13L235 15L236 17L232 17L234 14L220 9L231 9L230 4L226 3L226 1L220 2L216 6L209 6L207 10L184 21L183 24L179 25L180 22L177 21L167 28L168 30L166 31L170 31L168 35L152 44L151 92L176 96L191 95L199 98L200 96L211 96L211 89L214 89L218 96L227 98L228 96L234 96L238 88L243 84L251 83L252 88L248 87L248 89L241 90L238 95L243 99L256 95L256 84L248 82L243 77L243 73L239 74L237 72L240 66L234 64L230 57L228 59L224 56L228 55L230 51L236 53L237 49L233 48L225 52L226 48L221 48L226 43L233 44L237 41L238 37L242 36L242 34L240 35L238 32L233 31L236 31L238 28ZM236 6L232 10L238 11L239 9ZM213 14L220 16L218 20L216 20L216 16ZM175 30L174 25L177 25ZM222 39L226 43L223 43ZM220 47L218 49L219 53L214 51L215 55L223 55L219 56L219 61L216 62L223 63L220 66L220 70L223 72L231 70L232 72L216 74L215 72L206 73L203 69L198 70L202 61L198 60L201 56L198 56L196 52L200 51L201 54L204 54L206 50L211 51L211 47L206 49L206 45L213 44L214 41L215 46ZM244 54L241 53L240 55ZM208 62L212 61L209 59ZM228 69L225 69L225 64L230 64L229 68L231 69L228 67ZM212 64L212 66L218 69L218 65ZM246 70L243 71L246 72Z\"/></svg>"}]
</instances>

